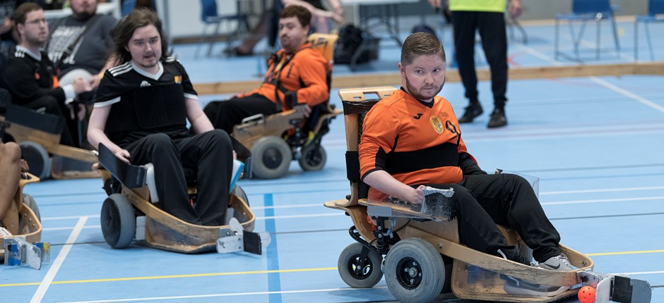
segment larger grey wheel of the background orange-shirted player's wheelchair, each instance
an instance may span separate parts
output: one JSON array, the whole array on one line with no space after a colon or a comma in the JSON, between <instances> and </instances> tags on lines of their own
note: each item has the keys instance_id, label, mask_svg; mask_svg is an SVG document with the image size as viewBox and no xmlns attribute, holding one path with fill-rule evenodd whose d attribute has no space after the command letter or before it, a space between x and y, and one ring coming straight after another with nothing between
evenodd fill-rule
<instances>
[{"instance_id":1,"label":"larger grey wheel of the background orange-shirted player's wheelchair","mask_svg":"<svg viewBox=\"0 0 664 303\"><path fill-rule=\"evenodd\" d=\"M262 137L251 147L254 176L261 179L283 177L288 171L292 151L280 137Z\"/></svg>"}]
</instances>

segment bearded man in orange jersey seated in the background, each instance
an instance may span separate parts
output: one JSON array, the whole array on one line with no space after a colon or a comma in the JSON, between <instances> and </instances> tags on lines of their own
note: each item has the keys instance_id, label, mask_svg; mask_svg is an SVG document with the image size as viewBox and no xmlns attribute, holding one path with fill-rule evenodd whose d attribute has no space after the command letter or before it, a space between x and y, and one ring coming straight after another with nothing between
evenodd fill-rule
<instances>
[{"instance_id":1,"label":"bearded man in orange jersey seated in the background","mask_svg":"<svg viewBox=\"0 0 664 303\"><path fill-rule=\"evenodd\" d=\"M288 6L279 16L279 38L283 49L268 62L263 84L230 100L213 101L204 109L215 128L228 133L242 119L297 109L304 118L312 106L329 97L327 59L307 42L312 14L302 6Z\"/></svg>"}]
</instances>

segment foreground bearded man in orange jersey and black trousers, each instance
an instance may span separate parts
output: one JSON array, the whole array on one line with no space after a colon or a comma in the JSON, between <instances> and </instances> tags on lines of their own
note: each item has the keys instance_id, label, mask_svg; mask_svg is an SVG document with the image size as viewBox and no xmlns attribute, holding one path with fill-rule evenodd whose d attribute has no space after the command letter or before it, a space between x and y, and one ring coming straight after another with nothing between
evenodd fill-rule
<instances>
[{"instance_id":1,"label":"foreground bearded man in orange jersey and black trousers","mask_svg":"<svg viewBox=\"0 0 664 303\"><path fill-rule=\"evenodd\" d=\"M498 223L521 235L541 267L572 270L528 181L487 175L468 154L452 106L437 97L446 75L445 51L437 37L410 35L398 66L401 89L374 105L362 125L360 175L371 187L369 199L392 196L421 204L425 186L451 187L463 244L529 265L516 247L507 245Z\"/></svg>"}]
</instances>

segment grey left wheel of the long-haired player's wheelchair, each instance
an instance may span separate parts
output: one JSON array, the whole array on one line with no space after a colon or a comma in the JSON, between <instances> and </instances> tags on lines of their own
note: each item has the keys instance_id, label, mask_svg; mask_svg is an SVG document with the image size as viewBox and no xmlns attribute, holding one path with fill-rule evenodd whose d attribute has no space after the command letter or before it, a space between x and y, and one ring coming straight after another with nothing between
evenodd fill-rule
<instances>
[{"instance_id":1,"label":"grey left wheel of the long-haired player's wheelchair","mask_svg":"<svg viewBox=\"0 0 664 303\"><path fill-rule=\"evenodd\" d=\"M136 235L134 206L122 194L111 194L102 204L102 234L113 248L125 248Z\"/></svg>"}]
</instances>

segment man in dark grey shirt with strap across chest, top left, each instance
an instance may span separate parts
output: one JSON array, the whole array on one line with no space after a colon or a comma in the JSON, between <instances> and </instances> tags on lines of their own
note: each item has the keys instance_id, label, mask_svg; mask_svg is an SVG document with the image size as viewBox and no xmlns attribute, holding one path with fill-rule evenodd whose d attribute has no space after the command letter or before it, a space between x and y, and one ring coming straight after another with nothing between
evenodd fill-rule
<instances>
[{"instance_id":1,"label":"man in dark grey shirt with strap across chest, top left","mask_svg":"<svg viewBox=\"0 0 664 303\"><path fill-rule=\"evenodd\" d=\"M97 0L71 0L71 16L50 24L46 50L59 69L58 78L82 68L92 75L104 70L113 49L111 31L117 20L97 14Z\"/></svg>"}]
</instances>

